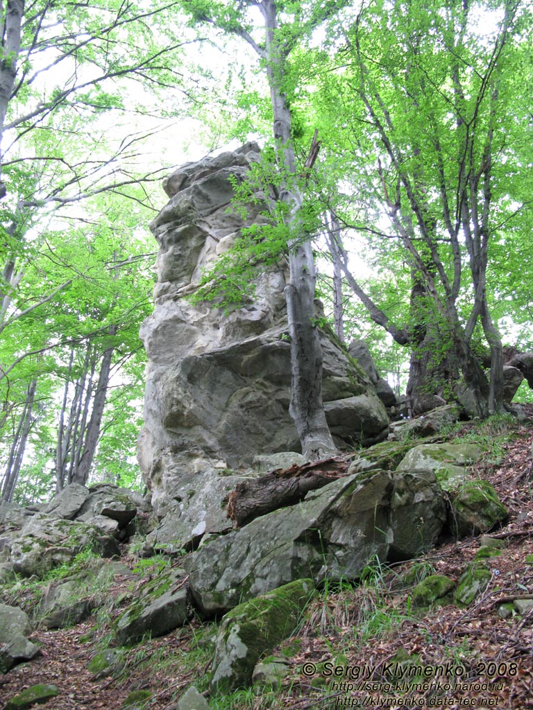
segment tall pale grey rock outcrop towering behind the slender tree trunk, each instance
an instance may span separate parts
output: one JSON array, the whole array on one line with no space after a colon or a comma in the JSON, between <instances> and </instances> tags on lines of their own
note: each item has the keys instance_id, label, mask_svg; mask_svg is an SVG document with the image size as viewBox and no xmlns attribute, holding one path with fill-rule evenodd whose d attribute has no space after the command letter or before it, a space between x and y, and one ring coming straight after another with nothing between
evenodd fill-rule
<instances>
[{"instance_id":1,"label":"tall pale grey rock outcrop towering behind the slender tree trunk","mask_svg":"<svg viewBox=\"0 0 533 710\"><path fill-rule=\"evenodd\" d=\"M244 180L258 159L257 144L248 143L183 165L163 182L169 201L150 225L158 280L154 314L141 327L149 366L139 463L158 515L172 512L167 537L182 542L220 529L222 498L250 475L254 456L300 450L289 416L284 263L258 275L253 300L230 315L189 300L205 266L240 229L265 219L261 204L246 217L231 206L230 176ZM322 343L335 441L383 438L387 416L370 379L325 332Z\"/></svg>"}]
</instances>

